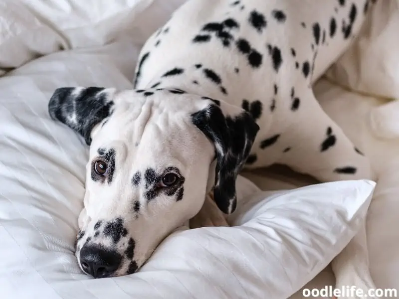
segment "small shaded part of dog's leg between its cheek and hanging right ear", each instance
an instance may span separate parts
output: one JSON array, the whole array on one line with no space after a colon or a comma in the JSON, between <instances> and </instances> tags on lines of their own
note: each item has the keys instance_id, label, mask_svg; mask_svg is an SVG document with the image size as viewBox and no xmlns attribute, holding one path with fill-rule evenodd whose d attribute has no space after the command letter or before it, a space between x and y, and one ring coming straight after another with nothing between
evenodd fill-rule
<instances>
[{"instance_id":1,"label":"small shaded part of dog's leg between its cheek and hanging right ear","mask_svg":"<svg viewBox=\"0 0 399 299\"><path fill-rule=\"evenodd\" d=\"M190 228L206 226L229 226L226 216L220 211L213 201L213 193L209 192L202 205L200 212L190 219Z\"/></svg>"}]
</instances>

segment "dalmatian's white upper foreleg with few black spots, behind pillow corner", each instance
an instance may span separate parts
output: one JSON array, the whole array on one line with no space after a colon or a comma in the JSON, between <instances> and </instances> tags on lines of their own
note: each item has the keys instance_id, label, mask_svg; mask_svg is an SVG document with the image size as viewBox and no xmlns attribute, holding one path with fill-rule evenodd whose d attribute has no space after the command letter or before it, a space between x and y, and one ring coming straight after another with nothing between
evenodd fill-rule
<instances>
[{"instance_id":1,"label":"dalmatian's white upper foreleg with few black spots, behind pillow corner","mask_svg":"<svg viewBox=\"0 0 399 299\"><path fill-rule=\"evenodd\" d=\"M293 112L297 114L296 120L288 133L280 137L281 143L290 150L277 162L323 182L371 179L369 159L323 111L313 92L302 91L295 95L303 103Z\"/></svg>"}]
</instances>

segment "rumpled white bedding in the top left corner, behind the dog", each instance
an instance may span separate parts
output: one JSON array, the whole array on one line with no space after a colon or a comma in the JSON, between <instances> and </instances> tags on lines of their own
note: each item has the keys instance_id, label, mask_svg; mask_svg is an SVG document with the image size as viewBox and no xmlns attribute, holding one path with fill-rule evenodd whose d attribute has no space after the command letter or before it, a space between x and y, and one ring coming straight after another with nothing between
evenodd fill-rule
<instances>
[{"instance_id":1,"label":"rumpled white bedding in the top left corner, behind the dog","mask_svg":"<svg viewBox=\"0 0 399 299\"><path fill-rule=\"evenodd\" d=\"M186 0L12 0L0 2L1 69L62 49L144 41Z\"/></svg>"}]
</instances>

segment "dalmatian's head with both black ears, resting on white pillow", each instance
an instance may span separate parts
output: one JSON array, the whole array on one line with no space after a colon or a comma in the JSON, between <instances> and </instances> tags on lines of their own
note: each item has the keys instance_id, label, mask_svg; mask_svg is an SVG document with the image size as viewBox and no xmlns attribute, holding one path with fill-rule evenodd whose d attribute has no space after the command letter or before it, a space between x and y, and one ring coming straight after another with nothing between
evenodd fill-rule
<instances>
[{"instance_id":1,"label":"dalmatian's head with both black ears, resting on white pillow","mask_svg":"<svg viewBox=\"0 0 399 299\"><path fill-rule=\"evenodd\" d=\"M95 278L136 272L211 188L232 213L259 130L244 110L179 89L59 88L48 110L90 145L75 254Z\"/></svg>"}]
</instances>

